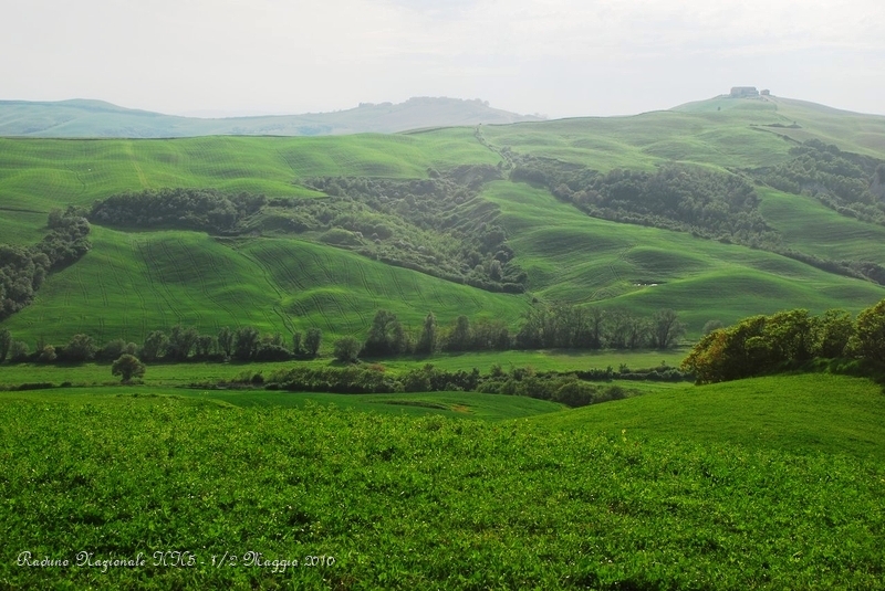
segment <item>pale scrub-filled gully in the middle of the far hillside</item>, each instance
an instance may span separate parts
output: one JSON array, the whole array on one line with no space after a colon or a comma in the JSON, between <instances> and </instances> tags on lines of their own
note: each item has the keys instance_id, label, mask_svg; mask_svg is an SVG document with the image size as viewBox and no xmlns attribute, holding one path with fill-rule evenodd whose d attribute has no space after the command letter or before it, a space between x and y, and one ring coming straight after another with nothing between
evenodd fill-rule
<instances>
[{"instance_id":1,"label":"pale scrub-filled gully in the middle of the far hillside","mask_svg":"<svg viewBox=\"0 0 885 591\"><path fill-rule=\"evenodd\" d=\"M322 177L309 183L329 199L273 204L292 230L325 230L323 242L481 289L521 293L527 276L512 262L499 212L476 199L499 178L490 166L420 180Z\"/></svg>"}]
</instances>

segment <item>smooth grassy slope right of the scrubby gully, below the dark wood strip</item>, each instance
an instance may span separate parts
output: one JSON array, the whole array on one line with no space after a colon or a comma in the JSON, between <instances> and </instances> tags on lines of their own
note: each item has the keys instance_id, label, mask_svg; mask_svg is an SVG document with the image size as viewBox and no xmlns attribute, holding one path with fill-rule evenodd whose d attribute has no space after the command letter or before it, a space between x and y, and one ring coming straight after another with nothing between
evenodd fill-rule
<instances>
[{"instance_id":1,"label":"smooth grassy slope right of the scrubby gully, below the dark wood strip","mask_svg":"<svg viewBox=\"0 0 885 591\"><path fill-rule=\"evenodd\" d=\"M885 297L885 288L870 282L768 252L590 218L528 184L494 183L483 197L501 207L513 236L510 244L533 292L551 300L598 302L644 312L669 306L697 336L710 319L731 323L790 306L857 312ZM846 226L878 232L878 226L844 220ZM803 236L815 240L808 233ZM851 252L864 252L863 240L854 245L857 250Z\"/></svg>"}]
</instances>

